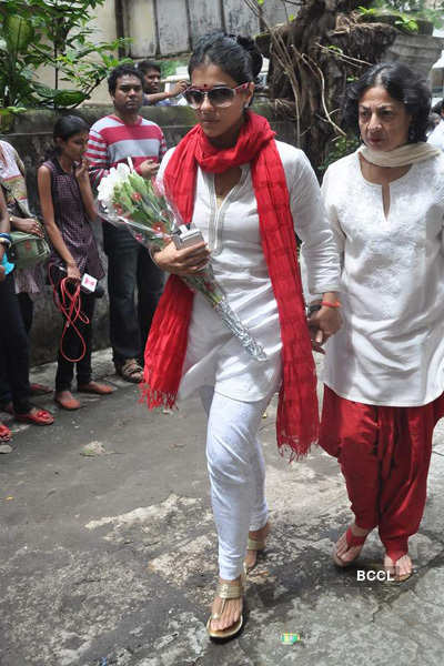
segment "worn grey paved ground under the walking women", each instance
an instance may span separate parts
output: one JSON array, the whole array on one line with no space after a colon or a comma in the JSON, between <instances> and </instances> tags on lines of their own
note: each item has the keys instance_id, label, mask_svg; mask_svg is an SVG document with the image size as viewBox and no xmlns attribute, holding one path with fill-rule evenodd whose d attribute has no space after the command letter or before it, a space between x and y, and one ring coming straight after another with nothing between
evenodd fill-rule
<instances>
[{"instance_id":1,"label":"worn grey paved ground under the walking women","mask_svg":"<svg viewBox=\"0 0 444 666\"><path fill-rule=\"evenodd\" d=\"M289 466L263 420L273 532L250 578L238 639L205 635L215 536L203 456L204 418L191 400L149 414L137 387L23 427L0 456L1 666L441 665L444 649L444 430L436 431L430 498L404 584L362 583L331 564L349 521L335 461L313 452ZM34 373L52 382L53 367ZM50 401L39 398L42 405ZM3 415L1 415L3 416ZM88 455L85 455L88 454ZM382 553L376 536L361 567ZM297 633L294 645L281 642Z\"/></svg>"}]
</instances>

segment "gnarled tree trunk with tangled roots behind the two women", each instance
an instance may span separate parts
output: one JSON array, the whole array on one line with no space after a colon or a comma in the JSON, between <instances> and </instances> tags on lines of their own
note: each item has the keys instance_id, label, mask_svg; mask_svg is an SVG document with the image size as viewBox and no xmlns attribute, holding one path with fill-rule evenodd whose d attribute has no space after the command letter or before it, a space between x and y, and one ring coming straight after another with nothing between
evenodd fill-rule
<instances>
[{"instance_id":1,"label":"gnarled tree trunk with tangled roots behind the two women","mask_svg":"<svg viewBox=\"0 0 444 666\"><path fill-rule=\"evenodd\" d=\"M296 102L300 148L315 168L324 162L329 142L341 135L337 124L347 81L377 62L396 36L390 26L356 22L353 10L370 4L371 0L307 0L293 21L256 39L270 58L270 97ZM276 38L291 58L293 81L282 65Z\"/></svg>"}]
</instances>

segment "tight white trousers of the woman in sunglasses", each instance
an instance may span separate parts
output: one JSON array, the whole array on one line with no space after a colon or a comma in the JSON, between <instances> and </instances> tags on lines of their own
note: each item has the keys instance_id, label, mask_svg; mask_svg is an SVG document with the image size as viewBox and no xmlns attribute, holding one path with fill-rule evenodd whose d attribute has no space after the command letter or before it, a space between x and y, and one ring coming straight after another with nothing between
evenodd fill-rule
<instances>
[{"instance_id":1,"label":"tight white trousers of the woman in sunglasses","mask_svg":"<svg viewBox=\"0 0 444 666\"><path fill-rule=\"evenodd\" d=\"M245 403L202 386L208 415L206 462L219 537L221 578L233 581L243 569L249 531L263 527L265 463L258 431L270 397Z\"/></svg>"}]
</instances>

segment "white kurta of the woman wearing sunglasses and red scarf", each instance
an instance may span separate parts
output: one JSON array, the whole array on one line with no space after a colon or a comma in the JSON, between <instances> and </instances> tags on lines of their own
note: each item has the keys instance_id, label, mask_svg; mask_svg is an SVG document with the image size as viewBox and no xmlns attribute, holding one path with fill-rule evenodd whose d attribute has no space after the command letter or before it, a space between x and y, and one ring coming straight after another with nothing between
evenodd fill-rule
<instances>
[{"instance_id":1,"label":"white kurta of the woman wearing sunglasses and red scarf","mask_svg":"<svg viewBox=\"0 0 444 666\"><path fill-rule=\"evenodd\" d=\"M337 289L339 258L329 228L317 181L304 153L276 142L290 192L294 228L304 241L312 291ZM158 181L162 186L165 167ZM281 382L281 331L259 230L258 205L250 165L240 182L218 206L214 175L198 168L193 224L211 250L214 274L231 307L262 344L266 361L255 361L233 337L201 294L195 294L189 329L186 357L179 397L202 385L229 397L255 402L278 390Z\"/></svg>"}]
</instances>

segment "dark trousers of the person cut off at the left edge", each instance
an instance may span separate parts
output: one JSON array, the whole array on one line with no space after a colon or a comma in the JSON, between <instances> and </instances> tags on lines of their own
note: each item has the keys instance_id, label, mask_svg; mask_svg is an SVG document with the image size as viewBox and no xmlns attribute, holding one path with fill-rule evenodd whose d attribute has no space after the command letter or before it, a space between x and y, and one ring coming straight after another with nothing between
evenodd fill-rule
<instances>
[{"instance_id":1,"label":"dark trousers of the person cut off at the left edge","mask_svg":"<svg viewBox=\"0 0 444 666\"><path fill-rule=\"evenodd\" d=\"M0 282L0 376L6 377L14 411L26 414L31 408L28 335L12 273Z\"/></svg>"}]
</instances>

